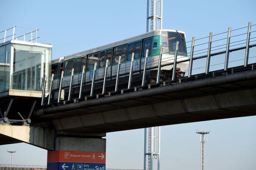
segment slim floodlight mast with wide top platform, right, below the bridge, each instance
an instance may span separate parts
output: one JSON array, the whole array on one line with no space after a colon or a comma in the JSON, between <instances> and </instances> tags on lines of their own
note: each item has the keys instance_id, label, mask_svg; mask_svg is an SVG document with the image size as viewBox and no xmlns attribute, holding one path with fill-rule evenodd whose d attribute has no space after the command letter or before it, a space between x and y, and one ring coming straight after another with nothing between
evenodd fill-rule
<instances>
[{"instance_id":1,"label":"slim floodlight mast with wide top platform, right, below the bridge","mask_svg":"<svg viewBox=\"0 0 256 170\"><path fill-rule=\"evenodd\" d=\"M209 130L197 130L196 133L200 134L201 142L201 170L205 170L205 143L207 142L207 134Z\"/></svg>"}]
</instances>

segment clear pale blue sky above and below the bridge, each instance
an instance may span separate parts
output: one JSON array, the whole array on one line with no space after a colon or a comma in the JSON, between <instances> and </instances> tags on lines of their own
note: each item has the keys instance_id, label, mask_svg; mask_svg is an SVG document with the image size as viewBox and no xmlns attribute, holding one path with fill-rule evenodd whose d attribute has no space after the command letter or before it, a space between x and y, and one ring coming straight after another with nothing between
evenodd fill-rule
<instances>
[{"instance_id":1,"label":"clear pale blue sky above and below the bridge","mask_svg":"<svg viewBox=\"0 0 256 170\"><path fill-rule=\"evenodd\" d=\"M256 24L255 0L164 0L163 28L186 32L187 40ZM0 31L40 28L39 42L53 45L52 59L146 31L146 0L0 0ZM207 170L255 170L256 116L162 127L161 169L199 170L196 129L209 129ZM144 130L107 133L107 168L143 168ZM28 144L0 146L0 164L46 165L47 151Z\"/></svg>"}]
</instances>

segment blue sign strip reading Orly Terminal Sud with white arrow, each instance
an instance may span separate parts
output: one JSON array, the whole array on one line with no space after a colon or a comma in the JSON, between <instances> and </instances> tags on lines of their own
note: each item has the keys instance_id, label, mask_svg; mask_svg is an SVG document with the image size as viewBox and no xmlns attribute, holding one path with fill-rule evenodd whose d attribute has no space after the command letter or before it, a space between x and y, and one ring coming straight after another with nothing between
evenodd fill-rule
<instances>
[{"instance_id":1,"label":"blue sign strip reading Orly Terminal Sud with white arrow","mask_svg":"<svg viewBox=\"0 0 256 170\"><path fill-rule=\"evenodd\" d=\"M47 170L106 170L103 163L48 162Z\"/></svg>"}]
</instances>

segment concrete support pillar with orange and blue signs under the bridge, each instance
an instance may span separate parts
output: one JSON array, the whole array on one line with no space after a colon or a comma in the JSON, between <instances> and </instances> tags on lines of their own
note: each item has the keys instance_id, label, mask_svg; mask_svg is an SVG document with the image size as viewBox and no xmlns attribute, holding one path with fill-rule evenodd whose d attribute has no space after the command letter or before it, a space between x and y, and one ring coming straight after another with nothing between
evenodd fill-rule
<instances>
[{"instance_id":1,"label":"concrete support pillar with orange and blue signs under the bridge","mask_svg":"<svg viewBox=\"0 0 256 170\"><path fill-rule=\"evenodd\" d=\"M106 139L58 136L47 170L106 170Z\"/></svg>"}]
</instances>

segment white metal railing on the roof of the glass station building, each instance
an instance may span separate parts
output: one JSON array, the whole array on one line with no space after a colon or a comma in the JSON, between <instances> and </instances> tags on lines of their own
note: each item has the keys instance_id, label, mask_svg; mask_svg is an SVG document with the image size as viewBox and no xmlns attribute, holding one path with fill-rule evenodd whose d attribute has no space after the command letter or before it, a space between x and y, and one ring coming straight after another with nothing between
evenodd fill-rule
<instances>
[{"instance_id":1,"label":"white metal railing on the roof of the glass station building","mask_svg":"<svg viewBox=\"0 0 256 170\"><path fill-rule=\"evenodd\" d=\"M38 28L29 28L23 26L14 26L12 28L0 31L0 42L6 42L9 40L21 40L37 42L38 40ZM2 38L3 37L3 38Z\"/></svg>"}]
</instances>

